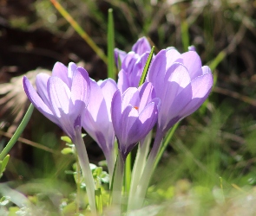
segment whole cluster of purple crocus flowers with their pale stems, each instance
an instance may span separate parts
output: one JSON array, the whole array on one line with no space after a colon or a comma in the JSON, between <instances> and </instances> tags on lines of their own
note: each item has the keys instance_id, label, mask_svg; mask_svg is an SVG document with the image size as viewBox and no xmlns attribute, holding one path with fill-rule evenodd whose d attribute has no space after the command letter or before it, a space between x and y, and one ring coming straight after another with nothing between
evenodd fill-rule
<instances>
[{"instance_id":1,"label":"whole cluster of purple crocus flowers with their pale stems","mask_svg":"<svg viewBox=\"0 0 256 216\"><path fill-rule=\"evenodd\" d=\"M37 75L36 90L26 77L23 79L31 103L75 143L92 210L95 210L95 187L82 142L82 127L102 148L111 178L115 168L113 203L120 206L126 158L137 143L144 143L156 125L153 148L141 174L136 176L136 183L132 184L128 199L128 210L132 210L142 206L163 137L174 124L202 105L213 86L211 70L202 67L194 48L184 54L174 48L161 50L150 64L146 82L138 86L150 50L145 37L128 54L115 49L116 65L120 68L117 83L113 79L95 82L82 67L74 63L65 67L58 62L51 77Z\"/></svg>"}]
</instances>

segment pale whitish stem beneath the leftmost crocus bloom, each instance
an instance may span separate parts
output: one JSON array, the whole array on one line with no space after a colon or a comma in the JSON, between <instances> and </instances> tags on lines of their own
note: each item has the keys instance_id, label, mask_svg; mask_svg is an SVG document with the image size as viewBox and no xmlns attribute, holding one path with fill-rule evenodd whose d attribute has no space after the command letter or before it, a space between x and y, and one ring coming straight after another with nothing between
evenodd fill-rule
<instances>
[{"instance_id":1,"label":"pale whitish stem beneath the leftmost crocus bloom","mask_svg":"<svg viewBox=\"0 0 256 216\"><path fill-rule=\"evenodd\" d=\"M75 144L76 153L82 169L82 175L86 184L86 191L88 194L89 206L92 213L96 213L95 204L95 181L89 167L89 158L85 144L82 139L82 133L80 126L75 127L75 138L73 140Z\"/></svg>"}]
</instances>

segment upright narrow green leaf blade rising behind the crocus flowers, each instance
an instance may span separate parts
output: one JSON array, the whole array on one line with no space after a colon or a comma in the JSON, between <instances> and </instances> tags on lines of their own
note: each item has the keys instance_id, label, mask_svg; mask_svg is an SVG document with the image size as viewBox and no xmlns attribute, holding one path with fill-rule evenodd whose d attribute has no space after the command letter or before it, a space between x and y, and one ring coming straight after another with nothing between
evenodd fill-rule
<instances>
[{"instance_id":1,"label":"upright narrow green leaf blade rising behind the crocus flowers","mask_svg":"<svg viewBox=\"0 0 256 216\"><path fill-rule=\"evenodd\" d=\"M108 9L108 78L115 80L115 33L114 33L114 19L113 10Z\"/></svg>"}]
</instances>

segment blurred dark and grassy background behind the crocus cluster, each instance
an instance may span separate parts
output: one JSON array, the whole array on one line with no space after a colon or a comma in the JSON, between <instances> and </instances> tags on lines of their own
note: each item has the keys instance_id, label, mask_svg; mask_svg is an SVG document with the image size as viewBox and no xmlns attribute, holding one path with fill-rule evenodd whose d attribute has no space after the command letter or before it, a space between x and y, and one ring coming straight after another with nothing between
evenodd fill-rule
<instances>
[{"instance_id":1,"label":"blurred dark and grassy background behind the crocus cluster","mask_svg":"<svg viewBox=\"0 0 256 216\"><path fill-rule=\"evenodd\" d=\"M162 191L176 184L181 191L190 184L220 186L220 180L227 190L256 184L256 1L59 3L105 54L108 9L112 8L116 48L128 52L141 36L148 37L156 52L175 47L182 53L194 45L203 65L213 71L213 92L199 111L182 120L155 171L154 198L171 197L173 192ZM0 0L0 149L29 105L23 75L35 79L36 73L51 70L56 61L65 65L74 61L91 78L107 78L105 63L49 0ZM64 170L70 169L74 158L61 155L62 135L62 130L35 110L23 139L10 152L1 181L19 188L33 179L72 186L73 176ZM104 160L92 139L85 141L90 161Z\"/></svg>"}]
</instances>

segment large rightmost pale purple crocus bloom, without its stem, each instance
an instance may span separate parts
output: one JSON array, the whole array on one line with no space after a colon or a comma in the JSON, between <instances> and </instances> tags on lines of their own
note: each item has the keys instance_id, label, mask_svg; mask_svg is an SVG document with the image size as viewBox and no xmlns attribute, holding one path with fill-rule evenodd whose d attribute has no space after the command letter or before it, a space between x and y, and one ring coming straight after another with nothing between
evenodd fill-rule
<instances>
[{"instance_id":1,"label":"large rightmost pale purple crocus bloom, without its stem","mask_svg":"<svg viewBox=\"0 0 256 216\"><path fill-rule=\"evenodd\" d=\"M200 56L189 51L161 50L152 60L148 81L161 98L158 127L167 132L175 123L196 111L207 99L213 75L201 65Z\"/></svg>"}]
</instances>

